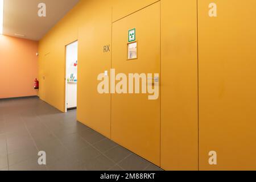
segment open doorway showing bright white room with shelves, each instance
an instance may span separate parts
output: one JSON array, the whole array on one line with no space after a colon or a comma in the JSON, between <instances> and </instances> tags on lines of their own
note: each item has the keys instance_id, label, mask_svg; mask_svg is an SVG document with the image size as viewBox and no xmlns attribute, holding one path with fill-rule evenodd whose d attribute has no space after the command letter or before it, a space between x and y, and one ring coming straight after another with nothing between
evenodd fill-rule
<instances>
[{"instance_id":1,"label":"open doorway showing bright white room with shelves","mask_svg":"<svg viewBox=\"0 0 256 182\"><path fill-rule=\"evenodd\" d=\"M77 107L77 52L77 41L66 46L66 112Z\"/></svg>"}]
</instances>

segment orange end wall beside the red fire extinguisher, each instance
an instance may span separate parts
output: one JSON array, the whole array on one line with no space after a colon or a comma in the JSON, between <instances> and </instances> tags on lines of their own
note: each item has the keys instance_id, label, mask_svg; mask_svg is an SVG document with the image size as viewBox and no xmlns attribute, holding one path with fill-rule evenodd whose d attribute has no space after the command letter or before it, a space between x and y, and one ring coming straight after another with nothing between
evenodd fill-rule
<instances>
[{"instance_id":1,"label":"orange end wall beside the red fire extinguisher","mask_svg":"<svg viewBox=\"0 0 256 182\"><path fill-rule=\"evenodd\" d=\"M0 35L0 98L36 96L38 42Z\"/></svg>"}]
</instances>

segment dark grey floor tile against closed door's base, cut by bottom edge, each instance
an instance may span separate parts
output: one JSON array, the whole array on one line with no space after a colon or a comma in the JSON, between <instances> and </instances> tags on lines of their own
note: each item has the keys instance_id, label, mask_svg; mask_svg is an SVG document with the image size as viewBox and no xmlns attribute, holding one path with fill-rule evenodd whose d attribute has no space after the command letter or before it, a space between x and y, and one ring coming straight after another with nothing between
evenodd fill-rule
<instances>
[{"instance_id":1,"label":"dark grey floor tile against closed door's base, cut by bottom edge","mask_svg":"<svg viewBox=\"0 0 256 182\"><path fill-rule=\"evenodd\" d=\"M146 169L150 163L138 155L132 154L118 165L127 171L142 171Z\"/></svg>"}]
</instances>

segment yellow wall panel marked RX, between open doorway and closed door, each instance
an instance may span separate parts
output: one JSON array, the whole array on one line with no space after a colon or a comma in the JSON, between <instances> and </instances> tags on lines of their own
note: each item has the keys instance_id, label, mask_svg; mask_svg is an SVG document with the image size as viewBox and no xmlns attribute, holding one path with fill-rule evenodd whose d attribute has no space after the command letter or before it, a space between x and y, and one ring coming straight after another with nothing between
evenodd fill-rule
<instances>
[{"instance_id":1,"label":"yellow wall panel marked RX, between open doorway and closed door","mask_svg":"<svg viewBox=\"0 0 256 182\"><path fill-rule=\"evenodd\" d=\"M77 119L110 138L110 94L97 92L98 74L110 71L112 7L106 1L86 4L79 26Z\"/></svg>"}]
</instances>

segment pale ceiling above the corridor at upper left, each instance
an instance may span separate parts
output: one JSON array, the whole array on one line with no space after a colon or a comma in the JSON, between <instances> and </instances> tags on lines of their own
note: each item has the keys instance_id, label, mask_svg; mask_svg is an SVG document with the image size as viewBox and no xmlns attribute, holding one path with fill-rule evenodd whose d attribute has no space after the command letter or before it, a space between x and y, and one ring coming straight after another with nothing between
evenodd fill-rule
<instances>
[{"instance_id":1,"label":"pale ceiling above the corridor at upper left","mask_svg":"<svg viewBox=\"0 0 256 182\"><path fill-rule=\"evenodd\" d=\"M40 40L79 2L79 0L4 1L3 34L30 40ZM46 17L38 16L38 4L42 2L46 3Z\"/></svg>"}]
</instances>

